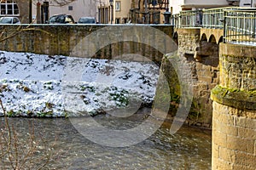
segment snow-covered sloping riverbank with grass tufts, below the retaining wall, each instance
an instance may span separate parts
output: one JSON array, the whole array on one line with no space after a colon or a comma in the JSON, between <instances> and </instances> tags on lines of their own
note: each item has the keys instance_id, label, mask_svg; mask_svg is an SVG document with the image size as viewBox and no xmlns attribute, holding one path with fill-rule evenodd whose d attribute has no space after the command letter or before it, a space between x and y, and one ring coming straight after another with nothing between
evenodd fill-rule
<instances>
[{"instance_id":1,"label":"snow-covered sloping riverbank with grass tufts, below the retaining wall","mask_svg":"<svg viewBox=\"0 0 256 170\"><path fill-rule=\"evenodd\" d=\"M152 62L0 51L0 94L9 116L96 114L150 104L158 75Z\"/></svg>"}]
</instances>

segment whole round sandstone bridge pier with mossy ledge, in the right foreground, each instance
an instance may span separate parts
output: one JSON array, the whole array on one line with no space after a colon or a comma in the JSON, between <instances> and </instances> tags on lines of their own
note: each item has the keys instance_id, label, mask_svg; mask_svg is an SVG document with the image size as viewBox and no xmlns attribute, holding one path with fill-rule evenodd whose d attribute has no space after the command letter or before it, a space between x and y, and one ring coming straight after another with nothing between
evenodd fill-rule
<instances>
[{"instance_id":1,"label":"whole round sandstone bridge pier with mossy ledge, in the right foreground","mask_svg":"<svg viewBox=\"0 0 256 170\"><path fill-rule=\"evenodd\" d=\"M212 169L256 167L256 47L221 43L212 89Z\"/></svg>"}]
</instances>

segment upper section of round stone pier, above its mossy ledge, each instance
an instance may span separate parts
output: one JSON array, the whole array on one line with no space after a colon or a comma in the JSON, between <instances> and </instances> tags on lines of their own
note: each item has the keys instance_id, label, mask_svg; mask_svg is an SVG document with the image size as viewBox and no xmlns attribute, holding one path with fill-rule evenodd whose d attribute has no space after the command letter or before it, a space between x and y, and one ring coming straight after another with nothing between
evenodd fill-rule
<instances>
[{"instance_id":1,"label":"upper section of round stone pier, above its mossy ledge","mask_svg":"<svg viewBox=\"0 0 256 170\"><path fill-rule=\"evenodd\" d=\"M221 44L220 85L241 90L256 89L256 48L236 44Z\"/></svg>"}]
</instances>

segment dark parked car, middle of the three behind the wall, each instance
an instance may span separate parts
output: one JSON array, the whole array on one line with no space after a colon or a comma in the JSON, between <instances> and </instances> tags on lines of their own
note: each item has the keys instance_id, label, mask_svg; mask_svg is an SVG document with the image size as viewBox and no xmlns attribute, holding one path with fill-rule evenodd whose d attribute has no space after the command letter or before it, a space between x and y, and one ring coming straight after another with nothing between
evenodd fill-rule
<instances>
[{"instance_id":1,"label":"dark parked car, middle of the three behind the wall","mask_svg":"<svg viewBox=\"0 0 256 170\"><path fill-rule=\"evenodd\" d=\"M69 14L55 14L49 18L49 24L75 24L73 16Z\"/></svg>"}]
</instances>

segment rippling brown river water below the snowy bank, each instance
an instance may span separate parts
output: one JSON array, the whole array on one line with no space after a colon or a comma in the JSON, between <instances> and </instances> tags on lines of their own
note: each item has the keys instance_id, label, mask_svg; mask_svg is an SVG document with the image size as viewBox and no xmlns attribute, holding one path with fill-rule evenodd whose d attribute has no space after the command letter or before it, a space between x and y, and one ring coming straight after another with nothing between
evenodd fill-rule
<instances>
[{"instance_id":1,"label":"rippling brown river water below the snowy bank","mask_svg":"<svg viewBox=\"0 0 256 170\"><path fill-rule=\"evenodd\" d=\"M107 127L130 128L143 121L144 113L118 121L109 115L95 116L94 119ZM171 135L168 131L171 123L165 122L143 142L118 148L95 144L84 138L68 118L9 118L9 123L20 138L18 147L22 148L22 142L23 145L29 143L29 133L33 133L34 140L38 141L35 158L32 157L37 162L32 164L32 169L40 161L48 160L47 154L50 156L45 169L211 169L211 132L198 127L183 126ZM2 117L2 129L3 124ZM9 168L9 161L0 158L0 163L0 169Z\"/></svg>"}]
</instances>

